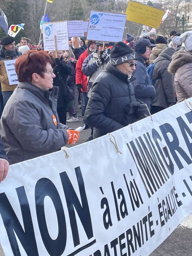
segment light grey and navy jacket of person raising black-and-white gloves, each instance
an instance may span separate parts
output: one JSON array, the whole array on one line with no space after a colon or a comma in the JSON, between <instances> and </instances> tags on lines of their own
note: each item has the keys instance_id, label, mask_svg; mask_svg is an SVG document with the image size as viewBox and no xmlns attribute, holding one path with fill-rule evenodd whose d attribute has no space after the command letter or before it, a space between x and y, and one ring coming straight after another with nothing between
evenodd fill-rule
<instances>
[{"instance_id":1,"label":"light grey and navy jacket of person raising black-and-white gloves","mask_svg":"<svg viewBox=\"0 0 192 256\"><path fill-rule=\"evenodd\" d=\"M89 90L92 88L92 84L94 83L95 79L106 68L107 63L110 59L109 56L110 55L108 55L108 59L102 65L99 66L96 62L97 60L99 60L98 52L92 52L84 60L82 65L82 71L85 74L85 76L87 76L87 81L89 81L89 83L87 84L87 92L89 92Z\"/></svg>"}]
</instances>

